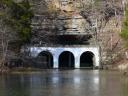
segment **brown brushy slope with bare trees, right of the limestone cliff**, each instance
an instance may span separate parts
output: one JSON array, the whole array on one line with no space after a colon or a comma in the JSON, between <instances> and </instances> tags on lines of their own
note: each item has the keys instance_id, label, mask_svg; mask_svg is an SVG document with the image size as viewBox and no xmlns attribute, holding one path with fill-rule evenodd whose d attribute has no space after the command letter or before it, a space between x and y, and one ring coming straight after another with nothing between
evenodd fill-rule
<instances>
[{"instance_id":1,"label":"brown brushy slope with bare trees, right of the limestone cliff","mask_svg":"<svg viewBox=\"0 0 128 96\"><path fill-rule=\"evenodd\" d=\"M102 62L112 63L123 50L119 36L124 16L124 0L91 0L80 14L91 26L93 42L101 47ZM84 4L84 3L82 3ZM95 30L93 30L95 28Z\"/></svg>"}]
</instances>

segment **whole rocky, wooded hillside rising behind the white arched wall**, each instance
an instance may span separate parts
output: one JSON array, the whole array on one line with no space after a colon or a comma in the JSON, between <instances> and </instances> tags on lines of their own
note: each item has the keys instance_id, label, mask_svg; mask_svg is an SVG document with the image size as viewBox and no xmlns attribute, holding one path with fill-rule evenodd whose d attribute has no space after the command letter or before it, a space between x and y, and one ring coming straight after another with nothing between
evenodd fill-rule
<instances>
[{"instance_id":1,"label":"whole rocky, wooded hillside rising behind the white arched wall","mask_svg":"<svg viewBox=\"0 0 128 96\"><path fill-rule=\"evenodd\" d=\"M52 46L62 43L98 45L101 48L103 66L111 66L125 58L124 44L119 35L124 19L125 0L10 0L12 3L2 0L1 2L0 12L6 12L5 15L10 19L8 22L12 25L11 27L9 25L9 29L11 32L16 32L13 35L7 34L18 37L13 38L13 42L20 42L17 49L21 45ZM3 30L0 32L3 33ZM66 34L66 40L62 34ZM72 38L70 34L73 34ZM9 43L5 42L5 45L8 44L10 46L12 44L10 39ZM8 47L5 49L6 51L2 51L8 54L7 50L10 49ZM15 50L13 52L17 54Z\"/></svg>"}]
</instances>

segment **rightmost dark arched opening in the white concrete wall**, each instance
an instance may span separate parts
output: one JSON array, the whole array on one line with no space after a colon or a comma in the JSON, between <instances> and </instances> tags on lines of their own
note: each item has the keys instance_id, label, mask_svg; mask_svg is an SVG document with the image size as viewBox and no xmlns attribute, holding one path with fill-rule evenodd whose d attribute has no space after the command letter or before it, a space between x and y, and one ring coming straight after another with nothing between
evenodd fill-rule
<instances>
[{"instance_id":1,"label":"rightmost dark arched opening in the white concrete wall","mask_svg":"<svg viewBox=\"0 0 128 96\"><path fill-rule=\"evenodd\" d=\"M93 68L94 66L94 54L90 51L84 52L80 56L80 67L81 68Z\"/></svg>"}]
</instances>

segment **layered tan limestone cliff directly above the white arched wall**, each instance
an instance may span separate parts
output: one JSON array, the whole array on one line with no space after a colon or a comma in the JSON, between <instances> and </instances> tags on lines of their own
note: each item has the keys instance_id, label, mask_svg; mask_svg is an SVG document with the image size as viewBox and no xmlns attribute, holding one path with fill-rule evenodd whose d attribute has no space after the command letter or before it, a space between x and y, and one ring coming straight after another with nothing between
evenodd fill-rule
<instances>
[{"instance_id":1,"label":"layered tan limestone cliff directly above the white arched wall","mask_svg":"<svg viewBox=\"0 0 128 96\"><path fill-rule=\"evenodd\" d=\"M57 43L60 35L74 35L78 40L91 37L91 27L87 20L80 14L84 5L89 5L89 0L31 0L33 12L32 41ZM52 35L52 39L51 39ZM57 36L57 37L56 37ZM64 36L63 36L64 37ZM67 37L67 36L66 36ZM82 39L83 38L83 39Z\"/></svg>"}]
</instances>

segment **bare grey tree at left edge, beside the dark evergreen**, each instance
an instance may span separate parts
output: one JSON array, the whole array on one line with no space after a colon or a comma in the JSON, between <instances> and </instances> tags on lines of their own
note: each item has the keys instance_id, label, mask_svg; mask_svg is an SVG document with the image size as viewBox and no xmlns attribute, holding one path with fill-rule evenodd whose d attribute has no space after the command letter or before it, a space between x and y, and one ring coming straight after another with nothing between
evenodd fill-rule
<instances>
[{"instance_id":1,"label":"bare grey tree at left edge, beside the dark evergreen","mask_svg":"<svg viewBox=\"0 0 128 96\"><path fill-rule=\"evenodd\" d=\"M15 56L15 53L9 47L12 47L12 42L19 40L17 32L7 24L9 18L9 15L6 15L9 14L7 10L6 8L0 10L0 13L2 13L0 15L0 69L4 69L4 64Z\"/></svg>"}]
</instances>

